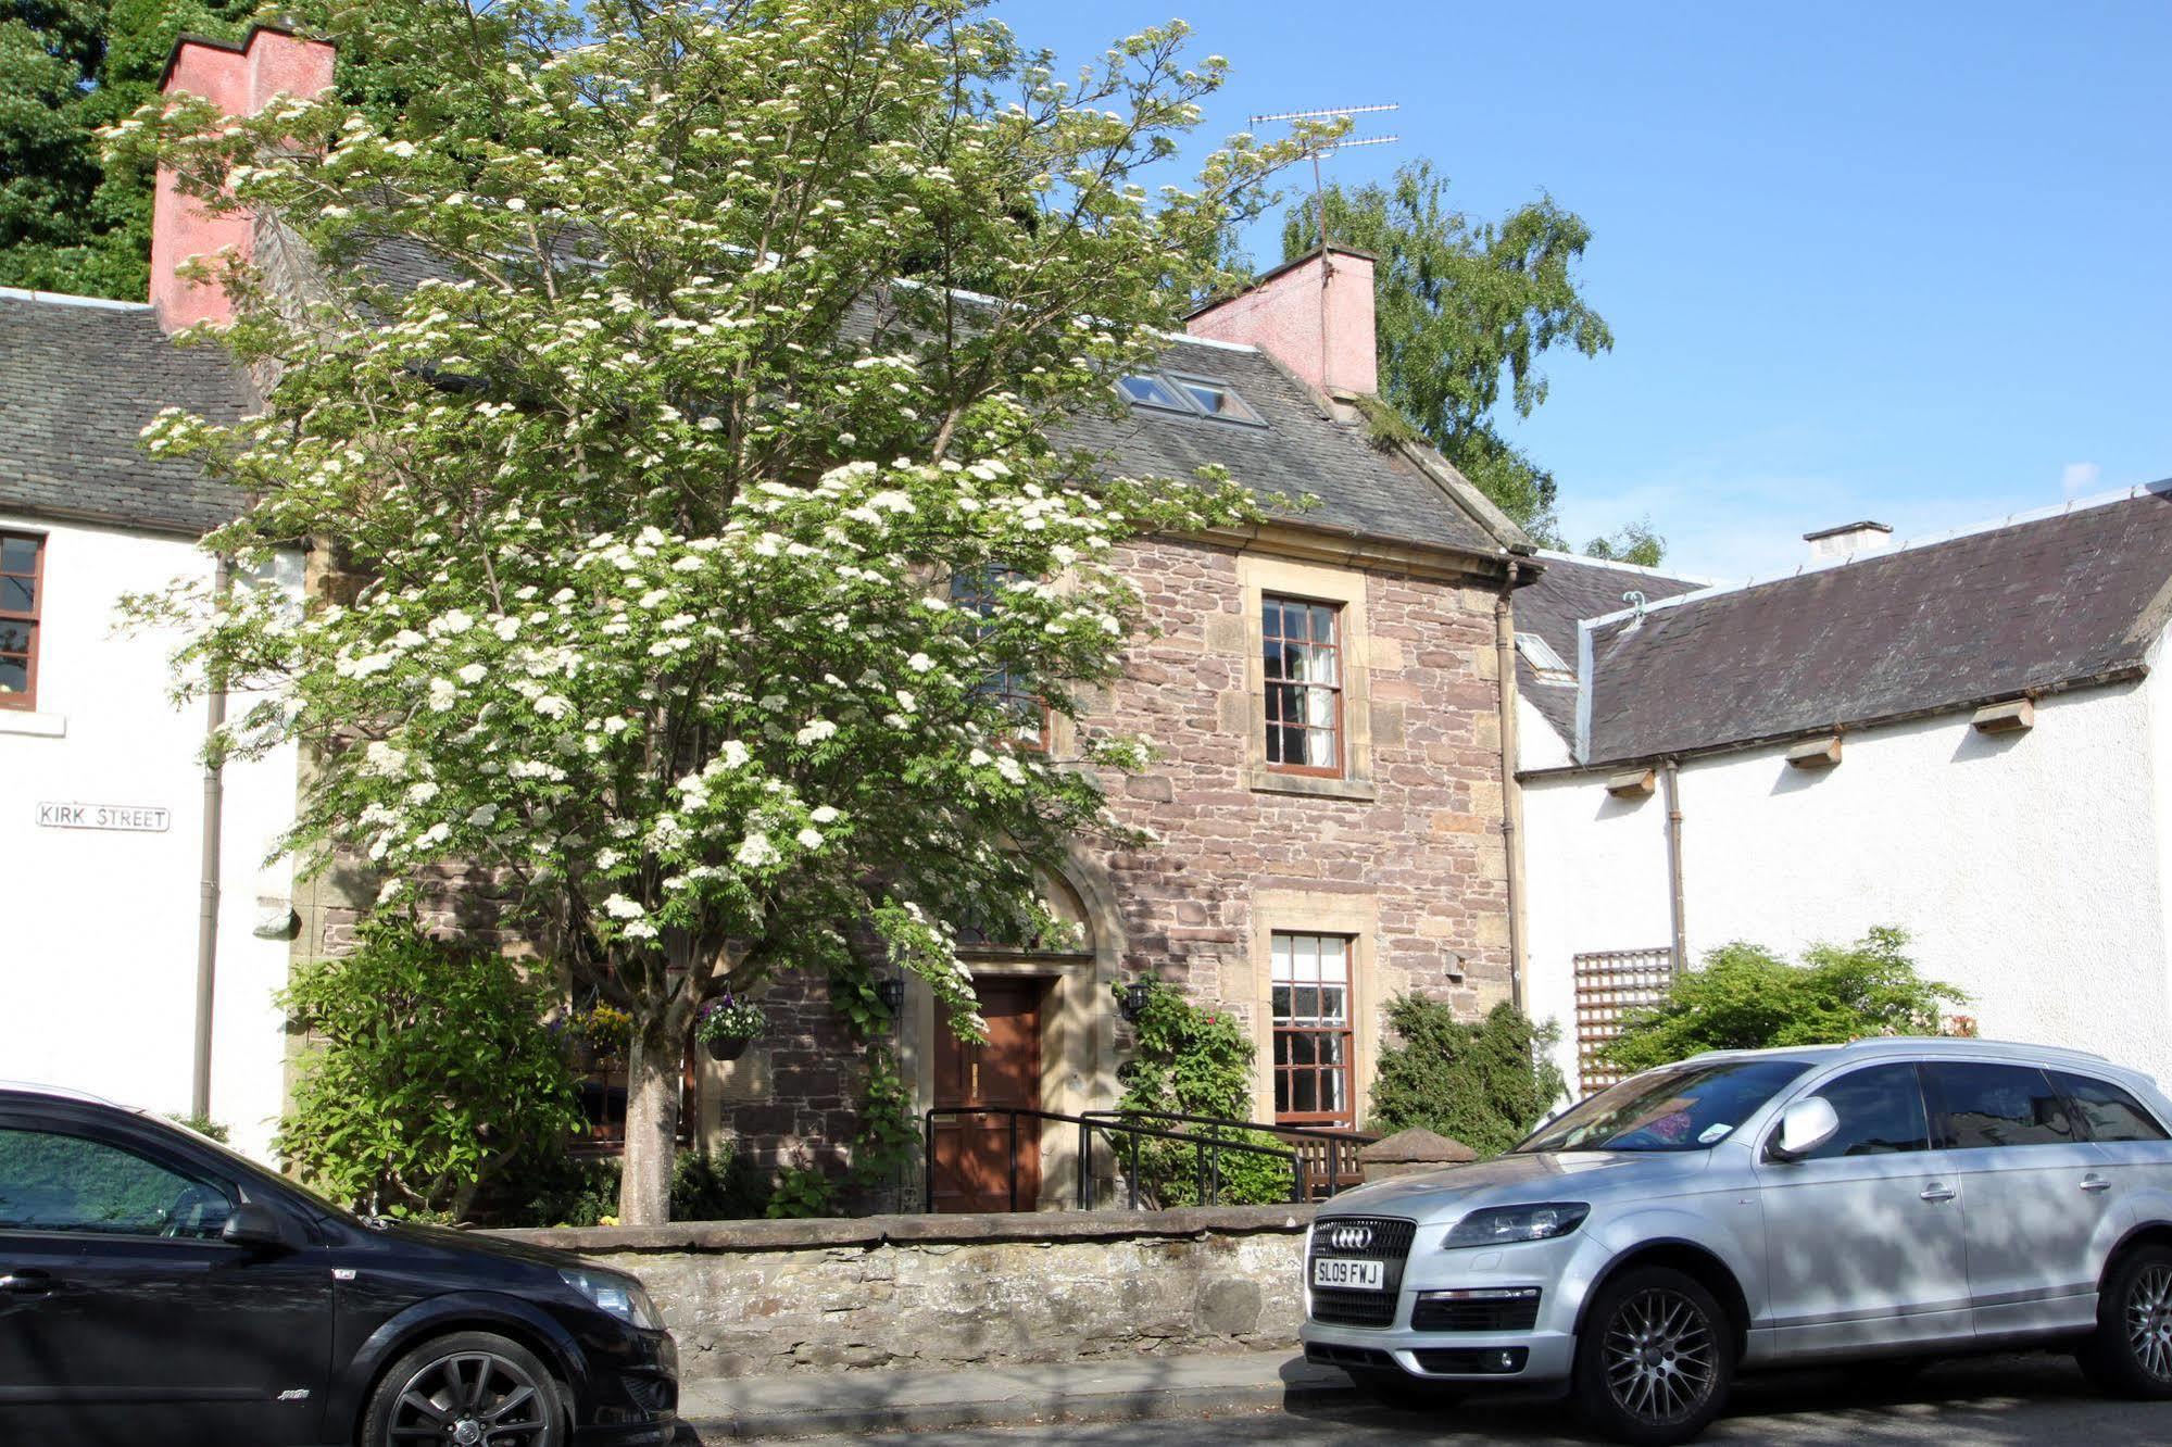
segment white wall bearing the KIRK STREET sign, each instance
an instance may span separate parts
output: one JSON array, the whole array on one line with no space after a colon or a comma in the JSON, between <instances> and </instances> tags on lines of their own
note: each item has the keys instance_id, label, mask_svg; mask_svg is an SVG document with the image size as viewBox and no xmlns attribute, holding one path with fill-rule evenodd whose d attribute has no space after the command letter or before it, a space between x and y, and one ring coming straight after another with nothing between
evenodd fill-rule
<instances>
[{"instance_id":1,"label":"white wall bearing the KIRK STREET sign","mask_svg":"<svg viewBox=\"0 0 2172 1447\"><path fill-rule=\"evenodd\" d=\"M161 1112L189 1108L202 878L204 704L174 708L172 637L119 637L122 593L191 576L211 558L180 539L46 524L37 713L0 710L0 1078L63 1084ZM300 554L276 584L300 595ZM226 767L224 895L213 1012L211 1112L239 1149L269 1158L285 1080L272 991L287 941L252 934L261 902L285 908L293 871L267 865L293 821L295 756ZM172 810L159 834L37 826L41 802Z\"/></svg>"}]
</instances>

